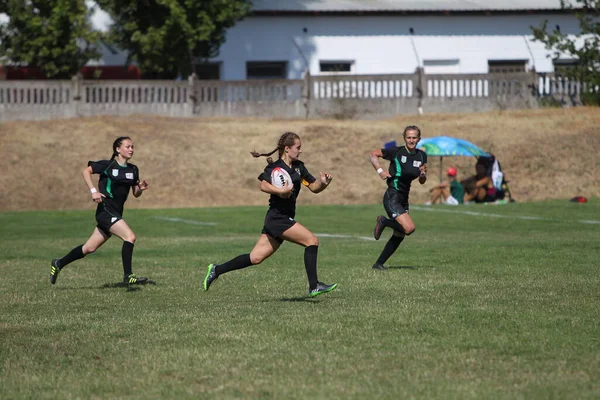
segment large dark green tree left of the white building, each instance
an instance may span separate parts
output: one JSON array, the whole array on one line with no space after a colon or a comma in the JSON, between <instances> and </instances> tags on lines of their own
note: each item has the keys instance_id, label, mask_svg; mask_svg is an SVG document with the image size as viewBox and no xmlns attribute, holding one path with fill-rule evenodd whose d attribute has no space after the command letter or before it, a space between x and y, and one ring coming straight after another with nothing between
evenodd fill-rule
<instances>
[{"instance_id":1,"label":"large dark green tree left of the white building","mask_svg":"<svg viewBox=\"0 0 600 400\"><path fill-rule=\"evenodd\" d=\"M225 31L250 11L248 0L97 0L114 23L110 40L146 78L173 79L218 55Z\"/></svg>"}]
</instances>

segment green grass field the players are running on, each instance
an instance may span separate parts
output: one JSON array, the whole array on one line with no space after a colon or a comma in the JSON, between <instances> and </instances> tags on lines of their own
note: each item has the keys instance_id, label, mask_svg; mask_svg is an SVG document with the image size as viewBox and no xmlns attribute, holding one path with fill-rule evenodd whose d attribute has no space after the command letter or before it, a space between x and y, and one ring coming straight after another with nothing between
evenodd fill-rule
<instances>
[{"instance_id":1,"label":"green grass field the players are running on","mask_svg":"<svg viewBox=\"0 0 600 400\"><path fill-rule=\"evenodd\" d=\"M320 238L307 297L286 243L208 292L210 262L248 252L264 207L130 210L121 241L64 269L93 210L0 213L0 398L600 398L600 200L413 206L390 259L380 205L300 206ZM207 225L205 223L214 223Z\"/></svg>"}]
</instances>

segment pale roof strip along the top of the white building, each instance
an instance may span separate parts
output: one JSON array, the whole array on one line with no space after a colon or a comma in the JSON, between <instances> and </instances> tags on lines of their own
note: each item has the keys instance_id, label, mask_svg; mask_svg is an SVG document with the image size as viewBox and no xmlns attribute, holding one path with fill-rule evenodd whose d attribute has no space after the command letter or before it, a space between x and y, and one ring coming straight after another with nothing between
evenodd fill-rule
<instances>
[{"instance_id":1,"label":"pale roof strip along the top of the white building","mask_svg":"<svg viewBox=\"0 0 600 400\"><path fill-rule=\"evenodd\" d=\"M382 13L561 10L560 0L253 0L255 13Z\"/></svg>"}]
</instances>

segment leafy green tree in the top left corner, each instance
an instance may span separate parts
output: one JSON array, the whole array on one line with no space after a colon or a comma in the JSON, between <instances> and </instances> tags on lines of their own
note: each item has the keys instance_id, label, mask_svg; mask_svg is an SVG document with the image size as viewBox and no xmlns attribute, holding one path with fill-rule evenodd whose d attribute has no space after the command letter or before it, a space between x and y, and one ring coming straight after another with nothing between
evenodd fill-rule
<instances>
[{"instance_id":1,"label":"leafy green tree in the top left corner","mask_svg":"<svg viewBox=\"0 0 600 400\"><path fill-rule=\"evenodd\" d=\"M93 58L99 33L85 0L0 0L0 57L8 65L39 67L48 78L70 78Z\"/></svg>"}]
</instances>

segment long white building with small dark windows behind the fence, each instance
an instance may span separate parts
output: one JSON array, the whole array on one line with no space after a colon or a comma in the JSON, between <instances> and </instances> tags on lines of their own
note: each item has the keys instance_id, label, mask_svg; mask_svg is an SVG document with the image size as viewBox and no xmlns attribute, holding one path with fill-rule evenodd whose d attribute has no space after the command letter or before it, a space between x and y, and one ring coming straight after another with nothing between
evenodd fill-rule
<instances>
[{"instance_id":1,"label":"long white building with small dark windows behind the fence","mask_svg":"<svg viewBox=\"0 0 600 400\"><path fill-rule=\"evenodd\" d=\"M314 75L553 72L532 26L576 34L560 0L254 0L205 79ZM570 60L563 60L569 62Z\"/></svg>"}]
</instances>

